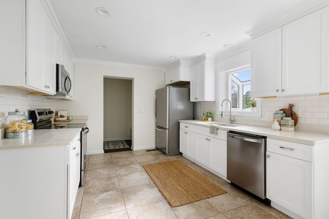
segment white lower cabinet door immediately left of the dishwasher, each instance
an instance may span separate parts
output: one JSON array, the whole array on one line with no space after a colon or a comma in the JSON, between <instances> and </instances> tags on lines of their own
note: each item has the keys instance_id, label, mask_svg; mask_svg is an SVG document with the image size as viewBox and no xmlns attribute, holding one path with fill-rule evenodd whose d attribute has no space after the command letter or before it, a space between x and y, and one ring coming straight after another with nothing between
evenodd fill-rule
<instances>
[{"instance_id":1,"label":"white lower cabinet door immediately left of the dishwasher","mask_svg":"<svg viewBox=\"0 0 329 219\"><path fill-rule=\"evenodd\" d=\"M209 167L224 176L227 176L227 150L226 141L210 138Z\"/></svg>"}]
</instances>

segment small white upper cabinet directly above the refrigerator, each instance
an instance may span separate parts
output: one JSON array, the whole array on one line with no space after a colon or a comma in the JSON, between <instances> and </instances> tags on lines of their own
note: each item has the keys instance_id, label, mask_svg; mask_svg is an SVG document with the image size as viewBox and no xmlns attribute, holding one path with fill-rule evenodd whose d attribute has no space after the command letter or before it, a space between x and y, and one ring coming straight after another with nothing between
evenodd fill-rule
<instances>
[{"instance_id":1,"label":"small white upper cabinet directly above the refrigerator","mask_svg":"<svg viewBox=\"0 0 329 219\"><path fill-rule=\"evenodd\" d=\"M166 67L166 85L184 86L190 82L191 62L178 60Z\"/></svg>"}]
</instances>

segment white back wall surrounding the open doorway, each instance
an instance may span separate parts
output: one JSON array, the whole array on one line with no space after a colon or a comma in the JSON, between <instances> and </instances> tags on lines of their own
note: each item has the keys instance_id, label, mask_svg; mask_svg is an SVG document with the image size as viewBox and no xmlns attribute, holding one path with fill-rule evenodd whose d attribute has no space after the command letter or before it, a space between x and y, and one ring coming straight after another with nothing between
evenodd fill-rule
<instances>
[{"instance_id":1,"label":"white back wall surrounding the open doorway","mask_svg":"<svg viewBox=\"0 0 329 219\"><path fill-rule=\"evenodd\" d=\"M132 147L134 150L154 148L154 95L156 89L165 86L165 73L157 69L77 62L74 101L61 101L60 108L71 115L88 115L87 154L103 153L104 77L133 80ZM144 108L144 113L138 113L138 108Z\"/></svg>"}]
</instances>

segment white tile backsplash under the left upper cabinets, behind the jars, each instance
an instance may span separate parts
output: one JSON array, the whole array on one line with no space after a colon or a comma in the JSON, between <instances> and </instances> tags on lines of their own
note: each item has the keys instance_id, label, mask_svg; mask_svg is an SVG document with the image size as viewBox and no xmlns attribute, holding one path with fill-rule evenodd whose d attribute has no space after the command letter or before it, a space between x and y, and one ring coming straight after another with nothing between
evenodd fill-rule
<instances>
[{"instance_id":1,"label":"white tile backsplash under the left upper cabinets, behind the jars","mask_svg":"<svg viewBox=\"0 0 329 219\"><path fill-rule=\"evenodd\" d=\"M48 99L43 96L28 95L16 93L13 91L0 90L0 129L1 138L4 138L6 116L8 112L14 112L15 109L25 112L30 117L31 109L50 108L54 111L58 110L59 100Z\"/></svg>"}]
</instances>

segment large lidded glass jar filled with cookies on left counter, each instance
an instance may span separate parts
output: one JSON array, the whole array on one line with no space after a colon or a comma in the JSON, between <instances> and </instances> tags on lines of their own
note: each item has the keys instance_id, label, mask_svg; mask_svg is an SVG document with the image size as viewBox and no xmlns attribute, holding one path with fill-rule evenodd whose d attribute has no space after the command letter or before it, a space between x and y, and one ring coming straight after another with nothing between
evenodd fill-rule
<instances>
[{"instance_id":1,"label":"large lidded glass jar filled with cookies on left counter","mask_svg":"<svg viewBox=\"0 0 329 219\"><path fill-rule=\"evenodd\" d=\"M25 112L16 109L8 112L6 117L6 138L20 138L27 136L27 117Z\"/></svg>"}]
</instances>

